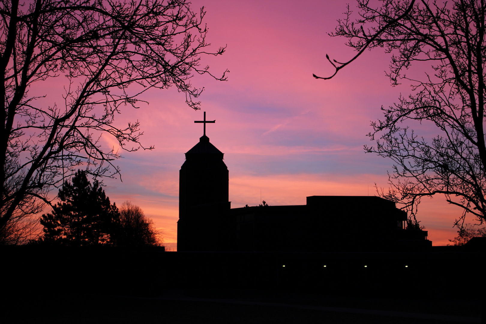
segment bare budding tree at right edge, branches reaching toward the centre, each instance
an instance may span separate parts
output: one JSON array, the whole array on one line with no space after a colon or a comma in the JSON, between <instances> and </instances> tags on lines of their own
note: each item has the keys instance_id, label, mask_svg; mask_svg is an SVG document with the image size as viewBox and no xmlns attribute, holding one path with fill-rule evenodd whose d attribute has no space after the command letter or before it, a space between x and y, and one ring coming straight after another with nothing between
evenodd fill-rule
<instances>
[{"instance_id":1,"label":"bare budding tree at right edge, branches reaching toward the centre","mask_svg":"<svg viewBox=\"0 0 486 324\"><path fill-rule=\"evenodd\" d=\"M346 17L331 33L348 38L347 45L358 53L344 63L327 56L335 73L314 77L332 78L364 50L383 48L392 54L387 73L392 85L410 83L410 95L382 107L384 119L373 122L368 134L376 146L364 148L394 161L390 189L380 195L401 203L415 219L422 197L443 194L447 202L464 210L456 225L468 213L483 223L485 1L383 0L373 7L358 0L358 8L359 17L352 20L348 6ZM407 75L412 63L429 63L432 73ZM418 136L410 121L435 125L437 136Z\"/></svg>"}]
</instances>

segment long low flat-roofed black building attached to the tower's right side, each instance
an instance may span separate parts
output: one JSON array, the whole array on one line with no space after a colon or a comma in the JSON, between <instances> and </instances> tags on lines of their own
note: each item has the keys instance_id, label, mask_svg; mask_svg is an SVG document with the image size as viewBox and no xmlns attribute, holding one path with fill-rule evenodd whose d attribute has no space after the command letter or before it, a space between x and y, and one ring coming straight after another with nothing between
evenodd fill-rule
<instances>
[{"instance_id":1,"label":"long low flat-roofed black building attached to the tower's right side","mask_svg":"<svg viewBox=\"0 0 486 324\"><path fill-rule=\"evenodd\" d=\"M401 228L405 212L374 196L312 196L307 205L234 208L229 218L234 251L391 251L431 246L425 241L426 232Z\"/></svg>"}]
</instances>

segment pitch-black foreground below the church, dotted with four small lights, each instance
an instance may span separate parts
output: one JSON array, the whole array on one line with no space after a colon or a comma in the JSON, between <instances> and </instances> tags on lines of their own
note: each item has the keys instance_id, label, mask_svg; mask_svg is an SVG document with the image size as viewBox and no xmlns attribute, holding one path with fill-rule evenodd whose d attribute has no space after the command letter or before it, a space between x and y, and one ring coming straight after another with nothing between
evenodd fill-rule
<instances>
[{"instance_id":1,"label":"pitch-black foreground below the church, dotted with four small lights","mask_svg":"<svg viewBox=\"0 0 486 324\"><path fill-rule=\"evenodd\" d=\"M1 323L481 323L484 307L479 251L0 254Z\"/></svg>"}]
</instances>

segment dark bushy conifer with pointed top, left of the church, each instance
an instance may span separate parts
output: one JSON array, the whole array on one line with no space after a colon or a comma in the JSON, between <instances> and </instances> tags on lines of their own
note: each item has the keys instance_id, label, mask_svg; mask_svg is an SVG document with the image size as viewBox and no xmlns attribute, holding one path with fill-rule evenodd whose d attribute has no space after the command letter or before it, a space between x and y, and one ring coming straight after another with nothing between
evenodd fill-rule
<instances>
[{"instance_id":1,"label":"dark bushy conifer with pointed top, left of the church","mask_svg":"<svg viewBox=\"0 0 486 324\"><path fill-rule=\"evenodd\" d=\"M88 181L86 172L78 170L72 184L65 182L59 189L61 203L52 213L42 215L42 241L52 244L85 246L107 243L119 219L118 208L110 205L98 183Z\"/></svg>"}]
</instances>

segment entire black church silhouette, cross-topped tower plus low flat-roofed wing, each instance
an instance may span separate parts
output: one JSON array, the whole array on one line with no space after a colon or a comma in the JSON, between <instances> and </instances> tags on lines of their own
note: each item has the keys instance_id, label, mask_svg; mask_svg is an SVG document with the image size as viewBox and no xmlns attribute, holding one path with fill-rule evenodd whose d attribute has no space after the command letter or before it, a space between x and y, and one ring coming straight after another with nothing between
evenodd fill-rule
<instances>
[{"instance_id":1,"label":"entire black church silhouette, cross-topped tower plus low flat-roofed wing","mask_svg":"<svg viewBox=\"0 0 486 324\"><path fill-rule=\"evenodd\" d=\"M427 231L376 196L310 196L306 205L231 208L224 153L204 135L179 173L177 251L359 252L423 249Z\"/></svg>"}]
</instances>

